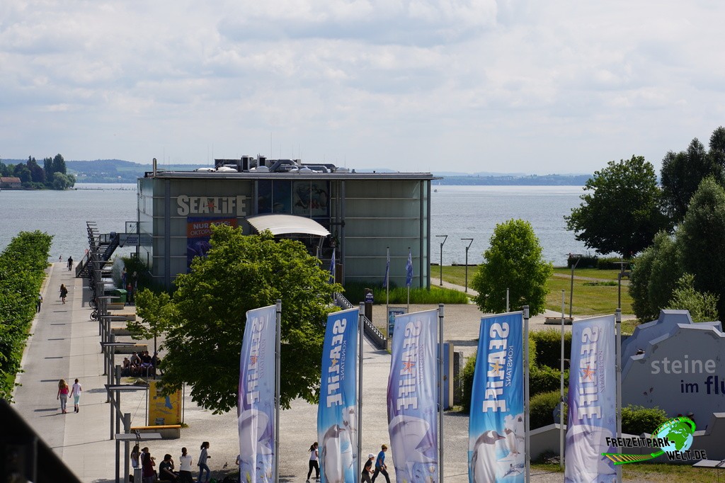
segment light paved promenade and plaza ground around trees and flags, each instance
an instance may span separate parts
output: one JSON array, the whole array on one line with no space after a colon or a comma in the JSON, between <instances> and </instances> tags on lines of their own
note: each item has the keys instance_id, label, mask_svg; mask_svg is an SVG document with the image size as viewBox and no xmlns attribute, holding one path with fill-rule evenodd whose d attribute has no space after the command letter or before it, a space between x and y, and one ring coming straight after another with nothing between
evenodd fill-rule
<instances>
[{"instance_id":1,"label":"light paved promenade and plaza ground around trees and flags","mask_svg":"<svg viewBox=\"0 0 725 483\"><path fill-rule=\"evenodd\" d=\"M91 321L84 294L83 280L73 278L65 263L54 263L48 271L43 287L43 307L33 324L33 336L23 359L24 373L20 375L22 386L15 392L14 408L53 448L83 482L115 481L115 442L109 439L110 408L106 402L102 376L103 362L99 345L98 323ZM59 286L69 290L67 303L59 300ZM133 310L132 307L127 307ZM427 310L436 306L411 305L410 311ZM384 326L384 305L374 307L373 319ZM448 305L445 307L444 337L454 342L456 350L466 353L476 348L481 313L475 305ZM552 313L556 316L558 314ZM543 316L531 319L531 330L544 328ZM130 338L120 338L128 339ZM151 344L149 344L151 347ZM117 358L117 363L123 356ZM363 453L377 453L382 443L389 444L386 416L386 387L390 368L390 356L385 351L374 350L365 343L363 363ZM238 366L229 368L238 371ZM213 374L210 374L213 377ZM58 380L64 378L70 384L80 379L83 395L80 413L61 414L57 395ZM210 442L209 461L212 477L221 479L236 468L234 461L238 450L236 413L213 415L198 408L185 397L184 422L181 439L146 443L152 455L160 463L165 453L173 455L178 467L181 447L186 446L194 458L199 455L202 441ZM123 412L131 413L132 426L146 424L145 395L136 393L123 396ZM317 407L296 400L289 410L283 410L280 418L281 447L280 475L283 482L303 482L307 476L307 448L317 440ZM466 465L468 445L468 417L459 413L444 416L444 477L446 482L468 482ZM121 450L123 458L123 445ZM388 452L392 481L392 454ZM123 461L120 462L123 469ZM226 466L226 468L225 468ZM562 474L534 474L533 482L560 482ZM384 480L380 480L384 481Z\"/></svg>"}]
</instances>

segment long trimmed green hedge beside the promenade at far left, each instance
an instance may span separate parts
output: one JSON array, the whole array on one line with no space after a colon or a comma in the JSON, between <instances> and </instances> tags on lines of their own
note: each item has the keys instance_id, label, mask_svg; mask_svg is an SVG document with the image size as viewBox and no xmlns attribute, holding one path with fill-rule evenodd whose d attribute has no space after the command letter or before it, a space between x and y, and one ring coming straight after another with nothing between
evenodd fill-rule
<instances>
[{"instance_id":1,"label":"long trimmed green hedge beside the promenade at far left","mask_svg":"<svg viewBox=\"0 0 725 483\"><path fill-rule=\"evenodd\" d=\"M53 237L21 231L0 254L0 398L12 400Z\"/></svg>"}]
</instances>

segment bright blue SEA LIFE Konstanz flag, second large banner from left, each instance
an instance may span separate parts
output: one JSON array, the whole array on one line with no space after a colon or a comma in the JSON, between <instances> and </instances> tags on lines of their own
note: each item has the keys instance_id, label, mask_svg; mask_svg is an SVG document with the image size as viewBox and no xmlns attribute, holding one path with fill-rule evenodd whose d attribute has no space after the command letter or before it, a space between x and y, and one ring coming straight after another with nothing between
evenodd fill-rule
<instances>
[{"instance_id":1,"label":"bright blue SEA LIFE Konstanz flag, second large banner from left","mask_svg":"<svg viewBox=\"0 0 725 483\"><path fill-rule=\"evenodd\" d=\"M322 483L357 483L357 329L360 310L327 316L318 405Z\"/></svg>"}]
</instances>

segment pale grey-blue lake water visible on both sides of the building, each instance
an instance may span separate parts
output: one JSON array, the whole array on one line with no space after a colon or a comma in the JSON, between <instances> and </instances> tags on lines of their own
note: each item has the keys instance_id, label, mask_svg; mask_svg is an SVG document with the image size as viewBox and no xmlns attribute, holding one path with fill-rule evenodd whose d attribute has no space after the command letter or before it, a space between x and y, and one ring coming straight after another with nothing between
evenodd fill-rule
<instances>
[{"instance_id":1,"label":"pale grey-blue lake water visible on both sides of the building","mask_svg":"<svg viewBox=\"0 0 725 483\"><path fill-rule=\"evenodd\" d=\"M0 191L0 250L19 231L54 235L50 260L72 255L80 260L88 248L86 221L101 233L123 231L136 220L135 184L83 184L69 191ZM585 252L584 244L566 230L564 215L579 205L581 186L434 186L431 194L431 261L439 262L440 241L448 235L443 261L480 263L497 223L527 220L544 249L544 258L564 265L568 253ZM130 249L127 249L130 250ZM117 253L124 253L123 249Z\"/></svg>"}]
</instances>

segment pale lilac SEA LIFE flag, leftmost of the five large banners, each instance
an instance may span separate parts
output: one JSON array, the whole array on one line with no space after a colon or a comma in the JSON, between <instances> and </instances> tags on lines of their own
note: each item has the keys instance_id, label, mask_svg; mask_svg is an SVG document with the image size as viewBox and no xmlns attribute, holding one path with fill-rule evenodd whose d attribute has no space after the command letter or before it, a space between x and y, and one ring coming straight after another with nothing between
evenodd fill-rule
<instances>
[{"instance_id":1,"label":"pale lilac SEA LIFE flag, leftmost of the five large banners","mask_svg":"<svg viewBox=\"0 0 725 483\"><path fill-rule=\"evenodd\" d=\"M239 358L239 474L247 483L274 481L277 307L247 312Z\"/></svg>"}]
</instances>

